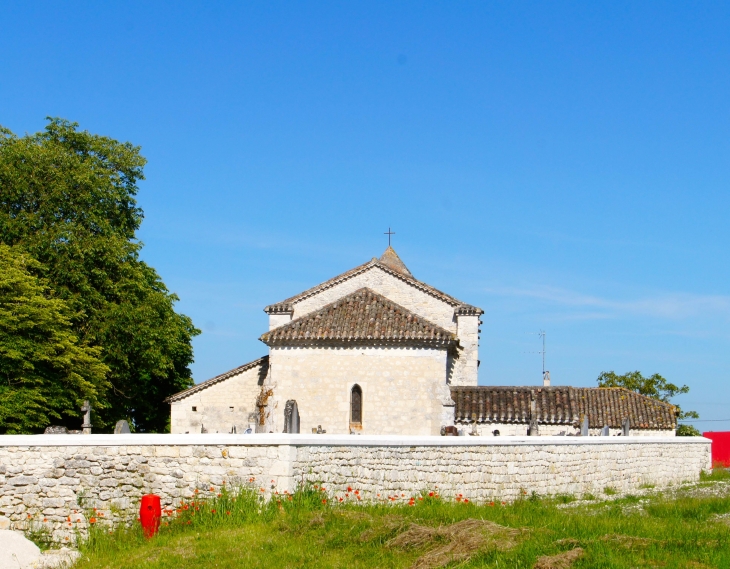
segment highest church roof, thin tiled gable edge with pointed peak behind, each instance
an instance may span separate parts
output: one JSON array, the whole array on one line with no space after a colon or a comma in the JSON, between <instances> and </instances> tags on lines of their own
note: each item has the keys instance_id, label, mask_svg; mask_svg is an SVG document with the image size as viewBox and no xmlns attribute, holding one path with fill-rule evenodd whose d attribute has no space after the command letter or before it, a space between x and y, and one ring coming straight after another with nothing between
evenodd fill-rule
<instances>
[{"instance_id":1,"label":"highest church roof, thin tiled gable edge with pointed peak behind","mask_svg":"<svg viewBox=\"0 0 730 569\"><path fill-rule=\"evenodd\" d=\"M390 274L391 276L394 276L414 288L417 288L418 290L425 292L426 294L429 294L435 298L438 298L439 300L442 300L443 302L450 304L454 308L458 309L459 307L466 306L470 307L476 312L475 314L483 314L484 311L481 308L476 308L473 306L470 306L453 296L450 296L446 294L445 292L441 292L440 290L432 287L431 285L427 285L424 282L421 282L413 277L411 272L408 270L408 267L406 267L405 263L401 261L400 257L398 257L398 254L395 252L395 249L393 249L390 245L385 250L385 252L381 255L380 259L376 259L373 257L370 261L367 263L364 263L358 267L355 267L354 269L350 269L349 271L345 271L341 275L337 275L336 277L333 277L329 279L328 281L325 281L321 284L318 284L315 287L312 287L308 290L305 290L304 292L301 292L295 296L292 296L290 298L287 298L286 300L282 300L281 302L277 302L276 304L270 304L266 308L264 308L264 312L268 314L275 314L275 313L291 313L294 311L294 305L297 302L301 302L304 299L307 299L311 296L314 296L315 294L318 294L322 292L323 290L327 290L328 288L332 288L333 286L337 286L338 284L347 281L349 279L352 279L365 271L369 271L372 268L379 268L386 273Z\"/></svg>"}]
</instances>

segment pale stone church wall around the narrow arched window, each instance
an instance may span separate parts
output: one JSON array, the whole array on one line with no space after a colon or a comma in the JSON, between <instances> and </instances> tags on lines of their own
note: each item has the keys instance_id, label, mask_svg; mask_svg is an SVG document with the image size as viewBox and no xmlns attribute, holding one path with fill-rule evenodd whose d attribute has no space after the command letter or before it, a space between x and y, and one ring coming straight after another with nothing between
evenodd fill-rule
<instances>
[{"instance_id":1,"label":"pale stone church wall around the narrow arched window","mask_svg":"<svg viewBox=\"0 0 730 569\"><path fill-rule=\"evenodd\" d=\"M350 393L362 389L363 434L437 435L446 386L446 350L427 348L272 348L267 430L281 432L284 405L297 402L302 433L321 425L350 432ZM453 419L452 419L453 420Z\"/></svg>"}]
</instances>

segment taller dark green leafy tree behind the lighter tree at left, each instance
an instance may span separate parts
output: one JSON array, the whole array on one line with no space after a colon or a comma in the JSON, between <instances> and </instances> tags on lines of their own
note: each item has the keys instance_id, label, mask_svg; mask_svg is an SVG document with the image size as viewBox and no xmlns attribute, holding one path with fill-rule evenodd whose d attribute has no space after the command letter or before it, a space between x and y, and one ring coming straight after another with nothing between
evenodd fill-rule
<instances>
[{"instance_id":1,"label":"taller dark green leafy tree behind the lighter tree at left","mask_svg":"<svg viewBox=\"0 0 730 569\"><path fill-rule=\"evenodd\" d=\"M139 258L139 150L61 119L22 137L0 130L0 241L38 261L33 270L66 302L79 341L100 349L110 388L95 426L124 418L163 431L163 399L192 385L199 331Z\"/></svg>"}]
</instances>

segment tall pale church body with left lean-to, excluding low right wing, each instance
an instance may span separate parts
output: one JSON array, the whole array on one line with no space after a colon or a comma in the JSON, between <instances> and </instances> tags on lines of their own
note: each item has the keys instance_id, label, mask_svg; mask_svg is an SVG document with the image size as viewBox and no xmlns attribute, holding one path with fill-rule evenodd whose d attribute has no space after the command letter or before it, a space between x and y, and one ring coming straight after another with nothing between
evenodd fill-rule
<instances>
[{"instance_id":1,"label":"tall pale church body with left lean-to, excluding low right wing","mask_svg":"<svg viewBox=\"0 0 730 569\"><path fill-rule=\"evenodd\" d=\"M417 280L392 247L271 304L269 354L172 396L173 433L437 435L453 425L449 386L476 386L480 308Z\"/></svg>"}]
</instances>

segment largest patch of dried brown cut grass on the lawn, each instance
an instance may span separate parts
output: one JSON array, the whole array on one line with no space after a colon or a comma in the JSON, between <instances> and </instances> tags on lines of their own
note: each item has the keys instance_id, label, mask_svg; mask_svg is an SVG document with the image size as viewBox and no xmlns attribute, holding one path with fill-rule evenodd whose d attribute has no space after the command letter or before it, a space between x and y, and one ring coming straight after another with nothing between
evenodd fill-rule
<instances>
[{"instance_id":1,"label":"largest patch of dried brown cut grass on the lawn","mask_svg":"<svg viewBox=\"0 0 730 569\"><path fill-rule=\"evenodd\" d=\"M442 542L411 565L411 569L436 569L454 561L466 561L486 547L511 549L519 542L524 529L514 529L486 520L468 519L450 526L411 526L386 545L399 549L416 549Z\"/></svg>"}]
</instances>

